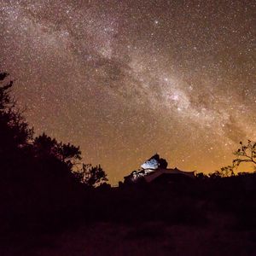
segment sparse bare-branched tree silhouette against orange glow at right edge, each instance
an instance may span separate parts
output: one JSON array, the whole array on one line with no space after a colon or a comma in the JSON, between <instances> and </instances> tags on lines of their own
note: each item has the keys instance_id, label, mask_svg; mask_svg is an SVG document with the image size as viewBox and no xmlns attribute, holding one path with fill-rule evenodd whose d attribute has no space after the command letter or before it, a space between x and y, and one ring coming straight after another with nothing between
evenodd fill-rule
<instances>
[{"instance_id":1,"label":"sparse bare-branched tree silhouette against orange glow at right edge","mask_svg":"<svg viewBox=\"0 0 256 256\"><path fill-rule=\"evenodd\" d=\"M233 160L233 166L240 166L241 163L253 163L256 165L256 143L248 140L247 144L240 142L240 148L238 148L233 154L237 156Z\"/></svg>"}]
</instances>

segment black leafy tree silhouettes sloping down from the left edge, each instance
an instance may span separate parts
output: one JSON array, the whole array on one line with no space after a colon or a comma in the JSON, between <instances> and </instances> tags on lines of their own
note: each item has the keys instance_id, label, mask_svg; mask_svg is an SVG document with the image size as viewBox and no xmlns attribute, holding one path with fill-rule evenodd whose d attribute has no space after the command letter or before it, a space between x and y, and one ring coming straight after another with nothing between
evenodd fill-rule
<instances>
[{"instance_id":1,"label":"black leafy tree silhouettes sloping down from the left edge","mask_svg":"<svg viewBox=\"0 0 256 256\"><path fill-rule=\"evenodd\" d=\"M13 82L4 83L7 77L7 73L0 73L0 164L3 169L10 168L13 172L20 172L19 169L25 166L28 170L39 165L47 166L52 170L50 172L66 172L70 180L73 177L73 182L78 179L79 182L92 187L102 181L108 181L101 166L85 165L80 162L82 158L79 147L70 143L59 143L45 133L33 138L33 129L29 128L20 110L15 108L15 99L10 96ZM80 170L76 169L79 175L74 174L74 166L82 166Z\"/></svg>"}]
</instances>

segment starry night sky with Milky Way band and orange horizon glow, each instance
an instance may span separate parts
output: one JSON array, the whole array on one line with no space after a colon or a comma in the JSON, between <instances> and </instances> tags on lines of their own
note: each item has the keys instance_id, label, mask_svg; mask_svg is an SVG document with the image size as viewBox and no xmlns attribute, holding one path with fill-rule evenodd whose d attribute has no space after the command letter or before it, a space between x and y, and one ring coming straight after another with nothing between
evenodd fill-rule
<instances>
[{"instance_id":1,"label":"starry night sky with Milky Way band and orange horizon glow","mask_svg":"<svg viewBox=\"0 0 256 256\"><path fill-rule=\"evenodd\" d=\"M0 70L36 134L110 183L156 152L212 172L256 139L254 1L0 0Z\"/></svg>"}]
</instances>

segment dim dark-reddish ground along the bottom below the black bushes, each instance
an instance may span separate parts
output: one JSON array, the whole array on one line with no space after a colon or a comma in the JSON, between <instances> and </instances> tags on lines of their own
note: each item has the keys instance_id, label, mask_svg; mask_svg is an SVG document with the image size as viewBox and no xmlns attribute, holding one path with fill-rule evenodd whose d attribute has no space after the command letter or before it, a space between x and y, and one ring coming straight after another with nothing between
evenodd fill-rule
<instances>
[{"instance_id":1,"label":"dim dark-reddish ground along the bottom below the black bushes","mask_svg":"<svg viewBox=\"0 0 256 256\"><path fill-rule=\"evenodd\" d=\"M202 226L95 223L54 234L16 234L15 240L2 247L2 256L256 255L255 230L234 230L229 216L214 214Z\"/></svg>"}]
</instances>

